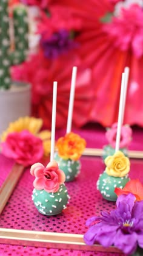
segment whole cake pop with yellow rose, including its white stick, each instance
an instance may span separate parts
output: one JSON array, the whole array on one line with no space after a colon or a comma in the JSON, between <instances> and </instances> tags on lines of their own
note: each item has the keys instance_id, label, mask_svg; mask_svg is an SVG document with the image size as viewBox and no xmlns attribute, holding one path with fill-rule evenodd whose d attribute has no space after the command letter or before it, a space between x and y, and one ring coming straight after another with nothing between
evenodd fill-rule
<instances>
[{"instance_id":1,"label":"whole cake pop with yellow rose, including its white stick","mask_svg":"<svg viewBox=\"0 0 143 256\"><path fill-rule=\"evenodd\" d=\"M119 151L121 140L121 127L124 112L124 94L125 94L125 73L122 74L121 95L119 102L119 115L116 132L115 154L105 158L105 171L99 176L97 188L102 196L108 201L116 201L117 196L114 192L116 187L123 188L128 182L128 172L130 171L130 161L128 157Z\"/></svg>"}]
</instances>

